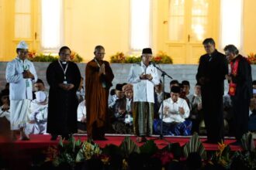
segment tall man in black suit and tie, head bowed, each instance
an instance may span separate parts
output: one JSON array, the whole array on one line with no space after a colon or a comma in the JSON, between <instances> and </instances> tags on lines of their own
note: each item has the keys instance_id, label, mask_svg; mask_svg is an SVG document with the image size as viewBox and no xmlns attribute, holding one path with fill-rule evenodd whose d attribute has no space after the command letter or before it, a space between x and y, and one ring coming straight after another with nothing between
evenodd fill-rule
<instances>
[{"instance_id":1,"label":"tall man in black suit and tie, head bowed","mask_svg":"<svg viewBox=\"0 0 256 170\"><path fill-rule=\"evenodd\" d=\"M207 142L223 140L223 91L224 80L228 74L226 56L215 49L212 38L202 42L206 54L199 60L196 80L202 90L202 112L207 131Z\"/></svg>"}]
</instances>

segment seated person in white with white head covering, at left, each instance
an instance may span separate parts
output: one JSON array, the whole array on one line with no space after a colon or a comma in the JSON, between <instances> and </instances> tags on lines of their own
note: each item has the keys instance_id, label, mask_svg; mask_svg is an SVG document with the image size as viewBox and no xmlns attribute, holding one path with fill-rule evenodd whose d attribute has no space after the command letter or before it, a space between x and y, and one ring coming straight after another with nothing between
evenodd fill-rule
<instances>
[{"instance_id":1,"label":"seated person in white with white head covering, at left","mask_svg":"<svg viewBox=\"0 0 256 170\"><path fill-rule=\"evenodd\" d=\"M28 134L46 134L47 132L47 114L48 100L43 91L36 91L36 99L31 101L29 107L29 122L26 123L25 133Z\"/></svg>"}]
</instances>

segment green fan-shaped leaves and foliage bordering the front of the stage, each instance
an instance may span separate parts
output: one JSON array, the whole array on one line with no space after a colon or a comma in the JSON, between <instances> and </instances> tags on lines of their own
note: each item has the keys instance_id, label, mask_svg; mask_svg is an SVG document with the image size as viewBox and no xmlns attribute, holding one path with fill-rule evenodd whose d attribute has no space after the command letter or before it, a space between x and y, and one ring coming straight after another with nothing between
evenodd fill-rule
<instances>
[{"instance_id":1,"label":"green fan-shaped leaves and foliage bordering the front of the stage","mask_svg":"<svg viewBox=\"0 0 256 170\"><path fill-rule=\"evenodd\" d=\"M179 143L171 143L161 150L157 148L154 141L147 141L139 148L130 137L125 137L119 146L106 145L105 148L99 148L99 145L90 140L82 143L80 139L75 140L73 137L69 138L68 141L64 141L61 138L57 146L54 145L48 148L45 152L46 159L43 161L51 162L51 165L58 168L61 168L62 165L67 165L74 169L79 162L99 158L108 168L112 167L111 164L115 163L112 162L112 158L115 158L117 155L123 160L123 169L127 169L127 158L133 152L150 155L151 158L160 158L162 166L168 165L168 162L172 160L183 162L189 153L197 152L206 164L218 165L227 169L236 165L243 165L245 167L241 169L255 169L256 151L253 149L254 146L251 146L251 140L251 134L244 134L242 143L244 142L243 148L245 150L236 152L232 152L228 145L221 142L218 144L218 150L214 151L213 155L206 159L206 151L202 142L199 141L199 135L196 133L192 135L190 141L183 148Z\"/></svg>"}]
</instances>

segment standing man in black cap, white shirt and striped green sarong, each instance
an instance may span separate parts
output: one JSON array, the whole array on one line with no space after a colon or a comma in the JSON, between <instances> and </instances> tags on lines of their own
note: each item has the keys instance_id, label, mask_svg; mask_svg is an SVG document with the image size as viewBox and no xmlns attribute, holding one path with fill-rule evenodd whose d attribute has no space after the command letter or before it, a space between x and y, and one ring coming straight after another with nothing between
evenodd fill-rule
<instances>
[{"instance_id":1,"label":"standing man in black cap, white shirt and striped green sarong","mask_svg":"<svg viewBox=\"0 0 256 170\"><path fill-rule=\"evenodd\" d=\"M153 132L154 86L159 83L157 69L150 64L152 50L143 49L141 62L133 64L128 83L133 83L133 130L137 141L146 141Z\"/></svg>"}]
</instances>

